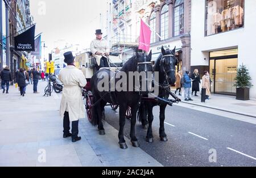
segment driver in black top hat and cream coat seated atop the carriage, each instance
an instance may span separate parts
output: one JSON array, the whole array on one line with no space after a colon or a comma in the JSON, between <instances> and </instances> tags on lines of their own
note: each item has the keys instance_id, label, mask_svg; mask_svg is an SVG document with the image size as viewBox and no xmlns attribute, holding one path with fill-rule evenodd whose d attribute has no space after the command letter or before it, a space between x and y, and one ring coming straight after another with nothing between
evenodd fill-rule
<instances>
[{"instance_id":1,"label":"driver in black top hat and cream coat seated atop the carriage","mask_svg":"<svg viewBox=\"0 0 256 178\"><path fill-rule=\"evenodd\" d=\"M96 29L96 39L90 43L90 52L96 58L97 70L102 67L109 67L108 59L104 56L109 56L108 42L102 38L101 29Z\"/></svg>"}]
</instances>

